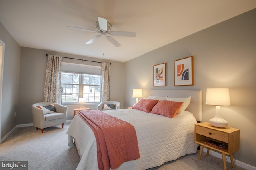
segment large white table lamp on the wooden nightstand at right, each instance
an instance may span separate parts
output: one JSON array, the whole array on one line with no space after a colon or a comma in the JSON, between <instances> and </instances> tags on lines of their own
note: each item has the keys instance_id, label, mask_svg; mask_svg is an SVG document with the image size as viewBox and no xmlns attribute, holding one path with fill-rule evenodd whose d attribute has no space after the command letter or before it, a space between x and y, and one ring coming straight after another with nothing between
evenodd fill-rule
<instances>
[{"instance_id":1,"label":"large white table lamp on the wooden nightstand at right","mask_svg":"<svg viewBox=\"0 0 256 170\"><path fill-rule=\"evenodd\" d=\"M209 120L214 127L227 127L228 122L220 115L220 106L230 106L230 97L228 88L208 88L206 89L205 104L215 105L215 117Z\"/></svg>"}]
</instances>

